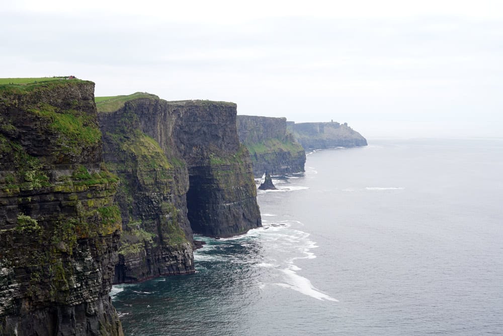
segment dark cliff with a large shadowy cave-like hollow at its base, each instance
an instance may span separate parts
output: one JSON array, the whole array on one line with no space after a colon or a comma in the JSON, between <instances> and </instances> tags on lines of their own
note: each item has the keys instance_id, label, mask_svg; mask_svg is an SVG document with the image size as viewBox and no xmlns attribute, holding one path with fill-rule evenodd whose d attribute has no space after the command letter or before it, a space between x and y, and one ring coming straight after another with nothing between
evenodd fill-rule
<instances>
[{"instance_id":1,"label":"dark cliff with a large shadowy cave-like hollow at its base","mask_svg":"<svg viewBox=\"0 0 503 336\"><path fill-rule=\"evenodd\" d=\"M236 132L236 105L170 103L175 139L189 167L189 220L196 233L229 237L262 225L247 149Z\"/></svg>"}]
</instances>

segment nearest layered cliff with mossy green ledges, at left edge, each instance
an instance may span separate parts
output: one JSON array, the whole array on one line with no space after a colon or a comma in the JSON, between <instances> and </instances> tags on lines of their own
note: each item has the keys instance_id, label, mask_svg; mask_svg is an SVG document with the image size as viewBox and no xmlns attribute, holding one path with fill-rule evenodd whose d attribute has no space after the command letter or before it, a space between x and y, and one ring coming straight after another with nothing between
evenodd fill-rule
<instances>
[{"instance_id":1,"label":"nearest layered cliff with mossy green ledges, at left edge","mask_svg":"<svg viewBox=\"0 0 503 336\"><path fill-rule=\"evenodd\" d=\"M122 334L94 83L0 86L0 333Z\"/></svg>"}]
</instances>

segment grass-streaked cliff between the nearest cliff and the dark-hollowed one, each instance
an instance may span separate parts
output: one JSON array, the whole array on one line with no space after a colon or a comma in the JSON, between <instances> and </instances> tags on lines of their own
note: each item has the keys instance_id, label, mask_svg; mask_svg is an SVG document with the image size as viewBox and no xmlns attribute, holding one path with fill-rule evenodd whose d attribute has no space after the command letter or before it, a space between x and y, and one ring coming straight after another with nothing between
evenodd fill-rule
<instances>
[{"instance_id":1,"label":"grass-streaked cliff between the nearest cliff and the dark-hollowed one","mask_svg":"<svg viewBox=\"0 0 503 336\"><path fill-rule=\"evenodd\" d=\"M187 165L173 143L173 111L157 98L99 113L107 166L121 179L123 234L115 283L193 273Z\"/></svg>"}]
</instances>

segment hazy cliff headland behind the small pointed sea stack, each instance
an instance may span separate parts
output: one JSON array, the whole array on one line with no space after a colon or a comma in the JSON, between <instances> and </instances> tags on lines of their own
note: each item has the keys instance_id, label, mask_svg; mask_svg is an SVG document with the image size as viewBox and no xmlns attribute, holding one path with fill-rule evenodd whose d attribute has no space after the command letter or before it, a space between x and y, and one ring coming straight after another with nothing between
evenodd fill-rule
<instances>
[{"instance_id":1,"label":"hazy cliff headland behind the small pointed sea stack","mask_svg":"<svg viewBox=\"0 0 503 336\"><path fill-rule=\"evenodd\" d=\"M304 171L306 154L287 131L286 118L238 115L239 141L250 152L255 177Z\"/></svg>"}]
</instances>

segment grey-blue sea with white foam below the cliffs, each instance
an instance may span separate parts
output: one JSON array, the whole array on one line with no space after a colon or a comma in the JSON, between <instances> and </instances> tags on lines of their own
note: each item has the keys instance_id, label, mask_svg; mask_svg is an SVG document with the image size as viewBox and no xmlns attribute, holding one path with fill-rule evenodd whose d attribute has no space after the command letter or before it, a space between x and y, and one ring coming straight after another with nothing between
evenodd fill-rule
<instances>
[{"instance_id":1,"label":"grey-blue sea with white foam below the cliffs","mask_svg":"<svg viewBox=\"0 0 503 336\"><path fill-rule=\"evenodd\" d=\"M127 335L503 333L503 139L322 150L197 273L114 286Z\"/></svg>"}]
</instances>

